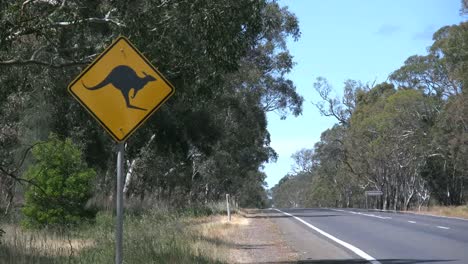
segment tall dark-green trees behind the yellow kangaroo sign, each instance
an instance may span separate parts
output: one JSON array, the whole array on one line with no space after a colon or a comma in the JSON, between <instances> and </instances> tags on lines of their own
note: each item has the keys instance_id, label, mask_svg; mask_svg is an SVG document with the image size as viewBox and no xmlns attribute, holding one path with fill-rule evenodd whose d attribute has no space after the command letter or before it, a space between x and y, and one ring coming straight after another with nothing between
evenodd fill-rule
<instances>
[{"instance_id":1,"label":"tall dark-green trees behind the yellow kangaroo sign","mask_svg":"<svg viewBox=\"0 0 468 264\"><path fill-rule=\"evenodd\" d=\"M115 143L67 85L119 35L176 87L126 144L126 196L184 206L229 193L241 206L263 206L266 176L259 168L276 159L266 113L302 111L303 98L286 77L293 67L286 39L300 36L294 14L270 0L37 0L0 1L4 212L21 205L31 186L55 188L41 185L40 168L49 167L40 164L66 159L40 147L40 160L30 154L51 140L78 146L81 153L70 147L70 156L93 169L92 195L112 199ZM66 179L68 170L57 168L54 181Z\"/></svg>"}]
</instances>

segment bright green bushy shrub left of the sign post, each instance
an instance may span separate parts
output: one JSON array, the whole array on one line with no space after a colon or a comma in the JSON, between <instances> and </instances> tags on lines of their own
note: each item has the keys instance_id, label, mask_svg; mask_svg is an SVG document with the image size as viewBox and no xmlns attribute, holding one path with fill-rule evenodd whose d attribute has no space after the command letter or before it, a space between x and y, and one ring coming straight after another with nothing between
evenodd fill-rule
<instances>
[{"instance_id":1,"label":"bright green bushy shrub left of the sign post","mask_svg":"<svg viewBox=\"0 0 468 264\"><path fill-rule=\"evenodd\" d=\"M50 136L32 150L35 163L24 177L29 185L23 213L26 227L68 227L93 217L86 209L96 173L83 161L70 139Z\"/></svg>"}]
</instances>

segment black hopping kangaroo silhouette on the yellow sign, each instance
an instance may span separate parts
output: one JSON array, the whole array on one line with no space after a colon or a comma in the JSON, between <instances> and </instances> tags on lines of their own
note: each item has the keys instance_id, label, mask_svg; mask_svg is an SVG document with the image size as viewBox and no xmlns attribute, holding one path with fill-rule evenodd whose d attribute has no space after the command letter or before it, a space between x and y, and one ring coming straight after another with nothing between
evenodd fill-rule
<instances>
[{"instance_id":1,"label":"black hopping kangaroo silhouette on the yellow sign","mask_svg":"<svg viewBox=\"0 0 468 264\"><path fill-rule=\"evenodd\" d=\"M132 68L128 67L127 65L119 65L112 69L112 71L107 75L107 77L96 86L88 87L83 83L83 80L81 81L81 83L88 90L98 90L108 84L112 84L115 88L122 92L122 95L125 99L125 102L127 103L128 108L146 111L146 109L144 108L130 104L130 91L132 89L134 89L134 93L132 95L133 99L135 98L138 91L143 89L148 82L156 81L156 78L154 78L153 76L148 75L145 72L143 72L143 74L145 75L145 77L140 78Z\"/></svg>"}]
</instances>

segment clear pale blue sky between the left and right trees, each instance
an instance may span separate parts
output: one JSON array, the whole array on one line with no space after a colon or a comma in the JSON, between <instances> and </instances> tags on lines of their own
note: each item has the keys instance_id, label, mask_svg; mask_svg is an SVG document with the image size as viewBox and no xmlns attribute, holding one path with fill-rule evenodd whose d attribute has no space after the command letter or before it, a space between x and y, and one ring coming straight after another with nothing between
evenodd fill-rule
<instances>
[{"instance_id":1,"label":"clear pale blue sky between the left and right trees","mask_svg":"<svg viewBox=\"0 0 468 264\"><path fill-rule=\"evenodd\" d=\"M323 117L312 102L313 88L323 76L340 95L347 79L383 82L411 55L424 55L432 34L445 25L458 24L460 0L283 0L296 14L301 38L288 41L296 66L289 78L305 98L301 116L280 120L268 114L271 146L279 155L265 164L267 183L273 187L291 171L291 155L312 148L320 134L336 121Z\"/></svg>"}]
</instances>

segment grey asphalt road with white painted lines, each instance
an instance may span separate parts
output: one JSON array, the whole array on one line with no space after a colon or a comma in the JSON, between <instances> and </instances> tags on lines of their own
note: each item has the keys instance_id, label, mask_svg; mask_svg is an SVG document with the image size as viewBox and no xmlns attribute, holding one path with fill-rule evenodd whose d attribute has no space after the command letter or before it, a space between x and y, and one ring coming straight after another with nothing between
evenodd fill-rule
<instances>
[{"instance_id":1,"label":"grey asphalt road with white painted lines","mask_svg":"<svg viewBox=\"0 0 468 264\"><path fill-rule=\"evenodd\" d=\"M468 220L358 209L265 213L300 263L468 264Z\"/></svg>"}]
</instances>

